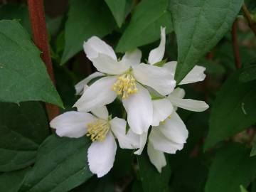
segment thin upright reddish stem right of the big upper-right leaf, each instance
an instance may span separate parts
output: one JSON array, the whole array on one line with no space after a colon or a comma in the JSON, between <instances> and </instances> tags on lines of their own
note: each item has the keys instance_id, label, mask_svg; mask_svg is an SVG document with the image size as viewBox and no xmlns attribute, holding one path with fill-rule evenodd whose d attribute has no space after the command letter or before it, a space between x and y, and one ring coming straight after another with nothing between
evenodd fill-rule
<instances>
[{"instance_id":1,"label":"thin upright reddish stem right of the big upper-right leaf","mask_svg":"<svg viewBox=\"0 0 256 192\"><path fill-rule=\"evenodd\" d=\"M238 32L237 32L238 20L236 19L232 26L232 43L233 43L233 51L235 57L235 66L237 69L241 68L241 60L239 54L239 45L238 45Z\"/></svg>"}]
</instances>

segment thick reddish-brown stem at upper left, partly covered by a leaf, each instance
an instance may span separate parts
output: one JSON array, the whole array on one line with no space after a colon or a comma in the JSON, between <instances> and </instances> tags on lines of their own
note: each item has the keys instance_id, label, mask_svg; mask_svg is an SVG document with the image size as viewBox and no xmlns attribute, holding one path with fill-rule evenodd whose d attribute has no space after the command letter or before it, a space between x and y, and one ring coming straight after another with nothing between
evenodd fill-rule
<instances>
[{"instance_id":1,"label":"thick reddish-brown stem at upper left, partly covered by a leaf","mask_svg":"<svg viewBox=\"0 0 256 192\"><path fill-rule=\"evenodd\" d=\"M48 45L48 33L46 29L46 17L44 14L43 0L28 0L28 11L31 20L31 27L33 32L33 41L42 51L41 58L46 64L50 79L55 85L55 78L53 73L53 65L50 58L50 49ZM56 105L46 103L46 110L49 120L53 119L59 114L59 108Z\"/></svg>"}]
</instances>

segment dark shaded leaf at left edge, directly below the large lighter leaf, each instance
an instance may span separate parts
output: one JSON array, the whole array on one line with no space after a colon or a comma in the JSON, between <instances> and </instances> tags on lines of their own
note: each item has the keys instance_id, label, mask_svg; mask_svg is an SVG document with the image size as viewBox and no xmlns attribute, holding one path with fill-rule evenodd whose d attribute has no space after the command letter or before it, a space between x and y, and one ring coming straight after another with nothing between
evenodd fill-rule
<instances>
[{"instance_id":1,"label":"dark shaded leaf at left edge, directly below the large lighter leaf","mask_svg":"<svg viewBox=\"0 0 256 192\"><path fill-rule=\"evenodd\" d=\"M23 169L48 136L46 113L39 102L0 102L0 109L0 171Z\"/></svg>"}]
</instances>

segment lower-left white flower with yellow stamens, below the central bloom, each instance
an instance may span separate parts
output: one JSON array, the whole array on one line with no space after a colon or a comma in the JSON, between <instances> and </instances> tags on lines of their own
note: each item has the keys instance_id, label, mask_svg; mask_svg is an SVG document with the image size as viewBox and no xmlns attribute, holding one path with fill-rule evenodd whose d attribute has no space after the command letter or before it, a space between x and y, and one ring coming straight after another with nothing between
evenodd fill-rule
<instances>
[{"instance_id":1,"label":"lower-left white flower with yellow stamens, below the central bloom","mask_svg":"<svg viewBox=\"0 0 256 192\"><path fill-rule=\"evenodd\" d=\"M126 134L126 121L114 117L108 119L107 107L103 106L87 112L65 112L50 122L50 127L56 129L60 137L90 137L92 144L87 151L90 171L102 177L107 174L114 164L117 144L125 149L139 148L133 144L139 141L139 135L129 130Z\"/></svg>"}]
</instances>

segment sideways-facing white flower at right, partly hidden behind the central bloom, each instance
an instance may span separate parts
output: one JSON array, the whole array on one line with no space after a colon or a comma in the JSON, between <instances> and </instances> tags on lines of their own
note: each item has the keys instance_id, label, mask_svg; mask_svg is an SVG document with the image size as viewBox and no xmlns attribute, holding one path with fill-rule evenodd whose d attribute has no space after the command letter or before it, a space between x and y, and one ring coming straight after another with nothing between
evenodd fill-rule
<instances>
[{"instance_id":1,"label":"sideways-facing white flower at right, partly hidden behind the central bloom","mask_svg":"<svg viewBox=\"0 0 256 192\"><path fill-rule=\"evenodd\" d=\"M176 61L173 61L166 63L164 68L169 68L174 74L176 65ZM206 69L196 65L181 81L180 85L204 80L206 78L203 73L204 70ZM183 149L183 144L186 143L188 138L186 125L176 113L177 107L194 112L203 112L209 107L206 102L183 99L184 96L185 90L177 87L167 97L153 100L153 122L149 134L147 153L151 163L156 166L159 172L161 172L162 167L166 166L164 152L175 154L177 150Z\"/></svg>"}]
</instances>

